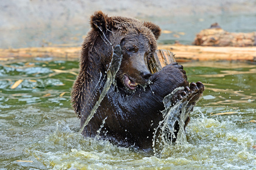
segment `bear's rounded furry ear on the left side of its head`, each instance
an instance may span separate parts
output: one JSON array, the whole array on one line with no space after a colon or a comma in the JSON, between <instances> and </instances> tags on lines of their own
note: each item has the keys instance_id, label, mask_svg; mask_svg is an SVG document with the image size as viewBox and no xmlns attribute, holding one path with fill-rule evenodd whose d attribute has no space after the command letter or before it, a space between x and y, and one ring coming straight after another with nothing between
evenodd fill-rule
<instances>
[{"instance_id":1,"label":"bear's rounded furry ear on the left side of its head","mask_svg":"<svg viewBox=\"0 0 256 170\"><path fill-rule=\"evenodd\" d=\"M105 32L114 26L112 18L103 14L102 11L96 11L94 15L91 16L90 23L91 27L99 32Z\"/></svg>"}]
</instances>

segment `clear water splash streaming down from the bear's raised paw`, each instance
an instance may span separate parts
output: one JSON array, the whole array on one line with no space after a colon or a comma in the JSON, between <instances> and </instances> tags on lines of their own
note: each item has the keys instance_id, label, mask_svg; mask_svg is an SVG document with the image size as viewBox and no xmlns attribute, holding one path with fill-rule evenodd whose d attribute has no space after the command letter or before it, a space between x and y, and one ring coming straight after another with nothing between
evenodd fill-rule
<instances>
[{"instance_id":1,"label":"clear water splash streaming down from the bear's raised paw","mask_svg":"<svg viewBox=\"0 0 256 170\"><path fill-rule=\"evenodd\" d=\"M192 105L188 105L187 100L181 100L175 105L171 103L173 95L180 90L184 90L184 87L176 88L163 99L165 105L165 110L162 111L163 120L159 122L153 135L152 147L155 155L161 155L164 148L173 144L174 141L181 145L187 143L184 125Z\"/></svg>"}]
</instances>

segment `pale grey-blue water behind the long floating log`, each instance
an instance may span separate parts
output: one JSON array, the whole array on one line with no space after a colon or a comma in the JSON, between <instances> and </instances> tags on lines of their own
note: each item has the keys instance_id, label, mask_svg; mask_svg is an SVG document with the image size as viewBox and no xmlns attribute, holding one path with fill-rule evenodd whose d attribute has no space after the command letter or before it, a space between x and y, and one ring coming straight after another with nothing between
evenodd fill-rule
<instances>
[{"instance_id":1,"label":"pale grey-blue water behind the long floating log","mask_svg":"<svg viewBox=\"0 0 256 170\"><path fill-rule=\"evenodd\" d=\"M121 15L121 14L120 14ZM164 31L158 40L160 44L173 44L179 41L182 44L192 44L196 33L209 28L213 23L219 23L221 28L228 32L254 32L256 14L204 14L204 15L173 15L138 18L150 21L160 26ZM88 19L89 20L89 19ZM65 26L63 26L65 25ZM72 25L72 24L70 24ZM1 30L0 48L24 48L34 46L78 46L81 45L90 25L86 21L80 25L61 27L52 26L24 29ZM171 31L171 32L170 32Z\"/></svg>"}]
</instances>

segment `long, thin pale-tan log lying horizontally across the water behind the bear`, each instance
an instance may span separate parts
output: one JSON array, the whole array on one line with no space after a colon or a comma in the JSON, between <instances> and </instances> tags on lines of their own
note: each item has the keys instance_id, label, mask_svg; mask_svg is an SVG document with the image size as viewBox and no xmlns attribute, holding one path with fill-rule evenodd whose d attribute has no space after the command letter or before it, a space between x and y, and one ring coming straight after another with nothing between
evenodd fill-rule
<instances>
[{"instance_id":1,"label":"long, thin pale-tan log lying horizontally across the water behind the bear","mask_svg":"<svg viewBox=\"0 0 256 170\"><path fill-rule=\"evenodd\" d=\"M170 50L177 62L183 61L251 61L256 62L256 46L195 46L158 45L158 49ZM38 47L20 49L0 49L0 62L11 59L52 57L79 59L81 47Z\"/></svg>"}]
</instances>

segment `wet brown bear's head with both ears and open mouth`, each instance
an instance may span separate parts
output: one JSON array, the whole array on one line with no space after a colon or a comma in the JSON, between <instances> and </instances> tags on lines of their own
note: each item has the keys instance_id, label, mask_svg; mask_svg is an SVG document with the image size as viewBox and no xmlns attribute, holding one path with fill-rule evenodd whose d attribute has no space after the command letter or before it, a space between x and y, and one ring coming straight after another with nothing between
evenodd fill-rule
<instances>
[{"instance_id":1,"label":"wet brown bear's head with both ears and open mouth","mask_svg":"<svg viewBox=\"0 0 256 170\"><path fill-rule=\"evenodd\" d=\"M160 27L151 22L141 22L133 18L108 17L101 11L91 16L90 23L93 29L89 35L101 39L101 43L95 41L93 45L104 44L100 45L102 52L99 56L109 55L102 58L104 61L100 63L106 63L108 66L112 46L121 46L123 59L116 74L118 86L128 91L135 90L138 84L144 86L152 75L148 68L148 61L157 49L156 40L161 33ZM102 49L103 46L105 46L104 49Z\"/></svg>"}]
</instances>

